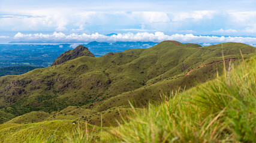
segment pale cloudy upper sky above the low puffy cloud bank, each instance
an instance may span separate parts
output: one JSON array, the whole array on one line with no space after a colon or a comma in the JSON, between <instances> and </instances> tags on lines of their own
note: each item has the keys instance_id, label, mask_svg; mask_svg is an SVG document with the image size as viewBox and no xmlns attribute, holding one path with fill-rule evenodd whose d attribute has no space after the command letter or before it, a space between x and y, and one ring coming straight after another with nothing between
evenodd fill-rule
<instances>
[{"instance_id":1,"label":"pale cloudy upper sky above the low puffy cloud bank","mask_svg":"<svg viewBox=\"0 0 256 143\"><path fill-rule=\"evenodd\" d=\"M119 29L131 29L210 35L224 28L226 33L235 29L235 35L256 36L255 0L0 1L1 32L122 33L127 30ZM144 28L137 30L141 25Z\"/></svg>"}]
</instances>

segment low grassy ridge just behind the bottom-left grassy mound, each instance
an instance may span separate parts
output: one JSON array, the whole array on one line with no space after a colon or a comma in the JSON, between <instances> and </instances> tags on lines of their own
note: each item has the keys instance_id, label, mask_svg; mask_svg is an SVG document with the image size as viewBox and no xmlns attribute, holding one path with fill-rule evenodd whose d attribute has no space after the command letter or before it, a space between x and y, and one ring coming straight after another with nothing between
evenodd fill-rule
<instances>
[{"instance_id":1,"label":"low grassy ridge just behind the bottom-left grassy mound","mask_svg":"<svg viewBox=\"0 0 256 143\"><path fill-rule=\"evenodd\" d=\"M121 120L120 114L127 114L131 108L125 107L114 107L106 111L97 112L95 110L89 110L77 106L69 106L61 111L53 111L52 113L46 113L44 111L32 111L30 113L23 114L22 116L14 117L11 114L5 113L3 119L5 123L37 123L50 120L80 120L82 122L89 121L93 125L101 125L101 122L104 126L118 126L116 120ZM11 115L11 116L10 116ZM101 117L103 119L101 119ZM13 118L13 119L12 119ZM11 120L10 120L11 119Z\"/></svg>"}]
</instances>

